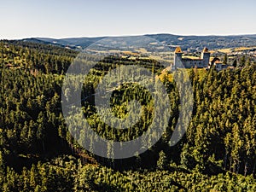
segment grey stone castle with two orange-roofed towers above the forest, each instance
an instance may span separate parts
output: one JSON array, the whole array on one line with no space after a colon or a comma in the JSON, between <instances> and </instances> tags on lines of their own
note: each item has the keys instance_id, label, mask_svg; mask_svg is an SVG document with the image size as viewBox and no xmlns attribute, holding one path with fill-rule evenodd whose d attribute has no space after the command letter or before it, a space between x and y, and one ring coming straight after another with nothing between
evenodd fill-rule
<instances>
[{"instance_id":1,"label":"grey stone castle with two orange-roofed towers above the forest","mask_svg":"<svg viewBox=\"0 0 256 192\"><path fill-rule=\"evenodd\" d=\"M174 63L171 64L171 69L179 68L191 68L198 67L204 68L208 67L210 63L210 52L207 48L204 48L201 52L201 57L196 59L183 58L183 51L180 47L177 47L174 52Z\"/></svg>"}]
</instances>

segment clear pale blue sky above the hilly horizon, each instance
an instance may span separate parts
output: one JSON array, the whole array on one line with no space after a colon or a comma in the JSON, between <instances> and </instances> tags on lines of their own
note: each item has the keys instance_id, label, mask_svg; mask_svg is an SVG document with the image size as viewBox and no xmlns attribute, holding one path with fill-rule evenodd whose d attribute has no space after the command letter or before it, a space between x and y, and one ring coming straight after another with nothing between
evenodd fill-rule
<instances>
[{"instance_id":1,"label":"clear pale blue sky above the hilly horizon","mask_svg":"<svg viewBox=\"0 0 256 192\"><path fill-rule=\"evenodd\" d=\"M255 0L5 0L0 39L256 33Z\"/></svg>"}]
</instances>

